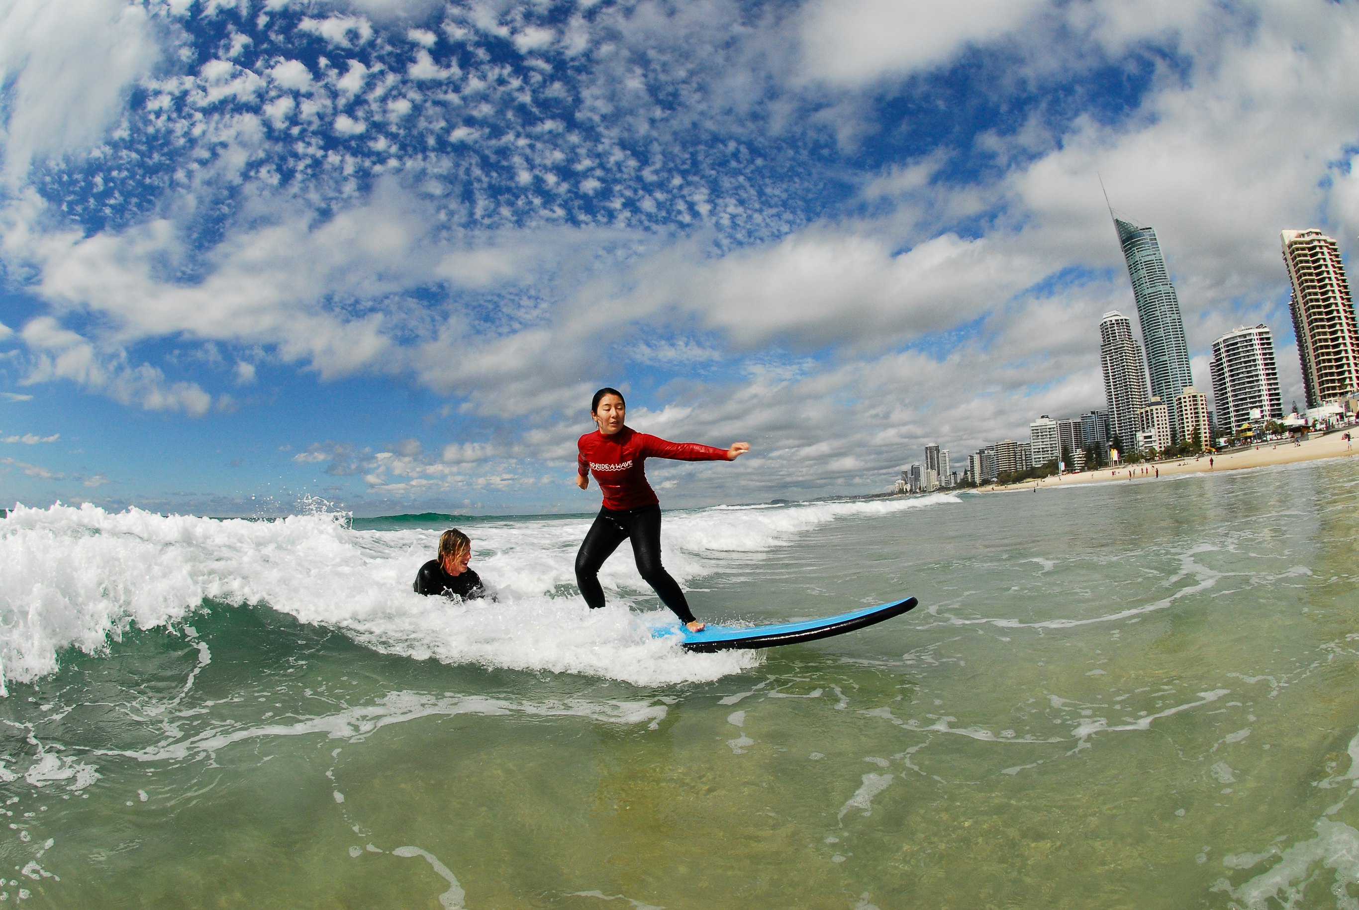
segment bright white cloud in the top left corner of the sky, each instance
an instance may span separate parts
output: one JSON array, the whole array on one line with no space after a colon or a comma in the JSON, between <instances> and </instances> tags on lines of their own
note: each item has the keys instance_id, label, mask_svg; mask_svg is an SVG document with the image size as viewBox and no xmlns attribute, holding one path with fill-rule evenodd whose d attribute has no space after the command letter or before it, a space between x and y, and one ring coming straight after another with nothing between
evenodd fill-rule
<instances>
[{"instance_id":1,"label":"bright white cloud in the top left corner of the sky","mask_svg":"<svg viewBox=\"0 0 1359 910\"><path fill-rule=\"evenodd\" d=\"M156 27L124 0L11 0L0 8L4 175L96 144L160 58ZM11 83L12 80L12 83Z\"/></svg>"}]
</instances>

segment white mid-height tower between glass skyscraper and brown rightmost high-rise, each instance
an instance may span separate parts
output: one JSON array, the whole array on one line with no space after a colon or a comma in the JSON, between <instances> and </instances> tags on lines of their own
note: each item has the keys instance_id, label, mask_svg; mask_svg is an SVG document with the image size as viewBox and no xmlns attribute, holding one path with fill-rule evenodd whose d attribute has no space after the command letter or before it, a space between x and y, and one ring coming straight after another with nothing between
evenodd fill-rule
<instances>
[{"instance_id":1,"label":"white mid-height tower between glass skyscraper and brown rightmost high-rise","mask_svg":"<svg viewBox=\"0 0 1359 910\"><path fill-rule=\"evenodd\" d=\"M1264 322L1238 326L1212 343L1214 416L1222 433L1237 435L1250 412L1258 411L1268 419L1283 419L1283 399L1279 396L1279 367L1273 356L1273 335ZM1212 439L1207 433L1204 439Z\"/></svg>"}]
</instances>

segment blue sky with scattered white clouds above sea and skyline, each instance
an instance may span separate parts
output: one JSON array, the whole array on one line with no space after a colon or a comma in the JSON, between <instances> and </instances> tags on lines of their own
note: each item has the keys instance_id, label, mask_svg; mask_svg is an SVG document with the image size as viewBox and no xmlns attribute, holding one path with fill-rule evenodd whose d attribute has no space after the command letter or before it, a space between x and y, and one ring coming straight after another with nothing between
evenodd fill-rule
<instances>
[{"instance_id":1,"label":"blue sky with scattered white clouds above sea and skyline","mask_svg":"<svg viewBox=\"0 0 1359 910\"><path fill-rule=\"evenodd\" d=\"M1287 407L1356 155L1348 1L0 0L0 502L591 511L603 385L752 443L666 506L885 491L1104 407L1104 190Z\"/></svg>"}]
</instances>

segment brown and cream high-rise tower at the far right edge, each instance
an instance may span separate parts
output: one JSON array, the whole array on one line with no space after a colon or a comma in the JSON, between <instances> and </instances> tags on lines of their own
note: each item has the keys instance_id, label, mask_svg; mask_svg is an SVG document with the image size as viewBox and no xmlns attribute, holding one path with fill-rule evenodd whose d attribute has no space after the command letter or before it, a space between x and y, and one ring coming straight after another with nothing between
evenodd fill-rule
<instances>
[{"instance_id":1,"label":"brown and cream high-rise tower at the far right edge","mask_svg":"<svg viewBox=\"0 0 1359 910\"><path fill-rule=\"evenodd\" d=\"M1359 328L1340 248L1318 230L1283 231L1280 238L1307 407L1359 393Z\"/></svg>"}]
</instances>

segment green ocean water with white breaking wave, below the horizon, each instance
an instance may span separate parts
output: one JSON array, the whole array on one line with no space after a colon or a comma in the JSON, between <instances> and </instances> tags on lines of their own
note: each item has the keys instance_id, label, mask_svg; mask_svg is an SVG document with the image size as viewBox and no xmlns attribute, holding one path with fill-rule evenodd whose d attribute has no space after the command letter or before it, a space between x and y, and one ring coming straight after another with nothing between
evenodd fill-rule
<instances>
[{"instance_id":1,"label":"green ocean water with white breaking wave, below the horizon","mask_svg":"<svg viewBox=\"0 0 1359 910\"><path fill-rule=\"evenodd\" d=\"M588 520L0 520L0 903L1359 907L1359 464Z\"/></svg>"}]
</instances>

